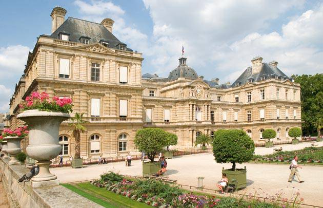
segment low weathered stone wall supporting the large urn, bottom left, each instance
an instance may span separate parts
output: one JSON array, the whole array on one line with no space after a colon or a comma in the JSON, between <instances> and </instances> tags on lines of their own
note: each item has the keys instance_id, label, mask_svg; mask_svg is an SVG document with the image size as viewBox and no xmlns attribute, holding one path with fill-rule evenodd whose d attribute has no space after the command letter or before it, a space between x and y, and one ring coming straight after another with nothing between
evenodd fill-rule
<instances>
[{"instance_id":1,"label":"low weathered stone wall supporting the large urn, bottom left","mask_svg":"<svg viewBox=\"0 0 323 208\"><path fill-rule=\"evenodd\" d=\"M8 165L8 159L0 159L0 169L10 207L103 207L61 185L32 188L30 181L18 183L30 169L24 165Z\"/></svg>"}]
</instances>

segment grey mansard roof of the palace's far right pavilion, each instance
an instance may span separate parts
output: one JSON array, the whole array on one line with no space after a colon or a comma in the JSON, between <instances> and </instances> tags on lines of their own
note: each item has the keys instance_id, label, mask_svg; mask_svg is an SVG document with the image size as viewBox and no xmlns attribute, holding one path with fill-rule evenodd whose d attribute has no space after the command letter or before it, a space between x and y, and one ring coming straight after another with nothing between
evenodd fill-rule
<instances>
[{"instance_id":1,"label":"grey mansard roof of the palace's far right pavilion","mask_svg":"<svg viewBox=\"0 0 323 208\"><path fill-rule=\"evenodd\" d=\"M252 74L252 66L248 67L240 77L232 83L231 87L235 87L236 83L240 83L239 85L243 85L248 80L252 79L252 82L260 81L261 77L265 77L266 79L275 78L278 76L278 79L286 80L289 79L285 73L280 71L277 66L273 66L271 64L262 63L261 70L259 73Z\"/></svg>"}]
</instances>

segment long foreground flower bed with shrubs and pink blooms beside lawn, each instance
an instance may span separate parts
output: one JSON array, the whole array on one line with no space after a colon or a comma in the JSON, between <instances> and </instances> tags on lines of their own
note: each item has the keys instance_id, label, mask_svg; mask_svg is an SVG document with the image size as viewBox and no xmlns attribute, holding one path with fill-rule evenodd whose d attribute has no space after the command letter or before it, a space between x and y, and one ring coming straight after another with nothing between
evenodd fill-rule
<instances>
[{"instance_id":1,"label":"long foreground flower bed with shrubs and pink blooms beside lawn","mask_svg":"<svg viewBox=\"0 0 323 208\"><path fill-rule=\"evenodd\" d=\"M199 195L187 193L178 186L170 185L159 179L129 180L119 174L109 172L101 175L101 179L91 181L91 184L106 188L107 191L123 195L138 202L153 207L295 207L296 198L292 205L286 201L273 200L274 203L264 202L249 198L248 201L232 197L215 197L210 195ZM280 196L280 195L279 195ZM279 198L280 199L280 198ZM296 203L295 203L296 202ZM297 207L297 206L296 206Z\"/></svg>"}]
</instances>

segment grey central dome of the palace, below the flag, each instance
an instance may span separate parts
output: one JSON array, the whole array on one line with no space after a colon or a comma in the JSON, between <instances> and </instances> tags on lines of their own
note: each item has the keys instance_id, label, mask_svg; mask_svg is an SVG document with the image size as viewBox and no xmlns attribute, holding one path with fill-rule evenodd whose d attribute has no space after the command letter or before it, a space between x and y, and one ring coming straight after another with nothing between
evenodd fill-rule
<instances>
[{"instance_id":1,"label":"grey central dome of the palace, below the flag","mask_svg":"<svg viewBox=\"0 0 323 208\"><path fill-rule=\"evenodd\" d=\"M187 79L196 80L198 78L197 73L193 68L186 65L187 59L184 57L181 57L178 60L179 60L179 65L177 68L175 68L169 73L168 81L177 80L178 78L187 78Z\"/></svg>"}]
</instances>

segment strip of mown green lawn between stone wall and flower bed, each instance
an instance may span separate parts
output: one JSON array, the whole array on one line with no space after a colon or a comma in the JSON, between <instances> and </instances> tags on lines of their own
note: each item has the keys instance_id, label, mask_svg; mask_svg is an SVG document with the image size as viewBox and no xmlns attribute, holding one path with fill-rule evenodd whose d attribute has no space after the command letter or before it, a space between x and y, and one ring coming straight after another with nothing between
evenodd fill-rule
<instances>
[{"instance_id":1,"label":"strip of mown green lawn between stone wall and flower bed","mask_svg":"<svg viewBox=\"0 0 323 208\"><path fill-rule=\"evenodd\" d=\"M147 204L140 203L129 199L125 196L109 192L106 188L99 188L90 182L77 184L62 184L69 190L91 200L104 207L151 207Z\"/></svg>"}]
</instances>

